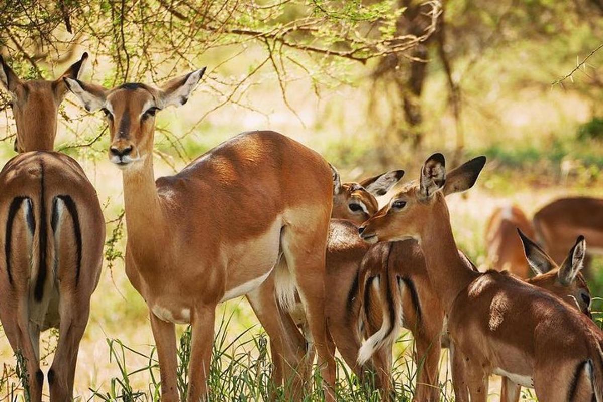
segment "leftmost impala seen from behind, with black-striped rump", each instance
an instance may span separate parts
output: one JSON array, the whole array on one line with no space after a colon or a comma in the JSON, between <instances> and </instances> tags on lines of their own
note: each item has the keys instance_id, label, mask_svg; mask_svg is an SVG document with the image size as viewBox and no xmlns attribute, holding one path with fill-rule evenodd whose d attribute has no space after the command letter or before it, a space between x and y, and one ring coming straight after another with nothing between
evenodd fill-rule
<instances>
[{"instance_id":1,"label":"leftmost impala seen from behind, with black-striped rump","mask_svg":"<svg viewBox=\"0 0 603 402\"><path fill-rule=\"evenodd\" d=\"M77 78L87 54L63 77ZM40 331L58 328L48 371L51 401L70 401L90 296L103 264L105 225L92 184L75 160L52 151L57 110L67 88L22 81L0 57L10 93L15 149L0 172L0 320L8 342L27 359L31 401L42 400Z\"/></svg>"}]
</instances>

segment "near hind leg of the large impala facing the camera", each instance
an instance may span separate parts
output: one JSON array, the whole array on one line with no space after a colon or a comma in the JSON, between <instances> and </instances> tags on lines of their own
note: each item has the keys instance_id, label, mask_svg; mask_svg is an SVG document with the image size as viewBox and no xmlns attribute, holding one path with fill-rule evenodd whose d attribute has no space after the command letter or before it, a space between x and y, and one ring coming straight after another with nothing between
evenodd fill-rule
<instances>
[{"instance_id":1,"label":"near hind leg of the large impala facing the camera","mask_svg":"<svg viewBox=\"0 0 603 402\"><path fill-rule=\"evenodd\" d=\"M298 294L306 311L306 318L314 347L318 354L318 364L326 388L326 400L334 401L335 351L327 332L327 318L324 306L324 279L326 239L329 219L324 219L321 227L308 225L307 221L287 226L282 233L282 249L289 269L295 277Z\"/></svg>"}]
</instances>

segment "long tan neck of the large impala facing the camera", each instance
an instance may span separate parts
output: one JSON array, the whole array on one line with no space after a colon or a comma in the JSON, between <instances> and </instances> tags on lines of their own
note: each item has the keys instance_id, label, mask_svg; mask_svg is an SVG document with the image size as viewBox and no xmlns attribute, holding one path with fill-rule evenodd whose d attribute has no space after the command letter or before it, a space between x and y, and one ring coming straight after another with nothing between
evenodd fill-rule
<instances>
[{"instance_id":1,"label":"long tan neck of the large impala facing the camera","mask_svg":"<svg viewBox=\"0 0 603 402\"><path fill-rule=\"evenodd\" d=\"M165 244L159 244L165 221L155 184L153 155L148 155L143 163L123 172L125 223L128 247L134 256L151 257L165 248Z\"/></svg>"}]
</instances>

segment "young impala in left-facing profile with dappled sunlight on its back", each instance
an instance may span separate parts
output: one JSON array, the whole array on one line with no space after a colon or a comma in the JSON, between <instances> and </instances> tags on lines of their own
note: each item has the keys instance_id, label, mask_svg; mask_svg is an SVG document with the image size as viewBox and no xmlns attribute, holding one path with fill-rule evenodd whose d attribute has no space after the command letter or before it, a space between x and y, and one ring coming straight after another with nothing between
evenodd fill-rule
<instances>
[{"instance_id":1,"label":"young impala in left-facing profile with dappled sunlight on its back","mask_svg":"<svg viewBox=\"0 0 603 402\"><path fill-rule=\"evenodd\" d=\"M443 155L432 155L418 183L368 219L361 237L420 242L472 402L487 400L490 374L534 388L543 401L603 401L601 330L555 295L505 272L475 272L459 256L444 196L470 189L484 164L478 157L446 175ZM581 265L584 247L578 239L567 269Z\"/></svg>"}]
</instances>

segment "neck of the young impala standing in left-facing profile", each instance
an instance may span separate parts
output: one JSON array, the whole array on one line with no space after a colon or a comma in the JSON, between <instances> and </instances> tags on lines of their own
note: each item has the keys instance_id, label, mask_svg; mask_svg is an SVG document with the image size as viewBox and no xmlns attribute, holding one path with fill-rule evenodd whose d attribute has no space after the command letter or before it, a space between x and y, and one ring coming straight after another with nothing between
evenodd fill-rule
<instances>
[{"instance_id":1,"label":"neck of the young impala standing in left-facing profile","mask_svg":"<svg viewBox=\"0 0 603 402\"><path fill-rule=\"evenodd\" d=\"M458 254L446 203L443 200L437 202L434 209L423 226L420 243L429 280L440 295L444 309L449 312L459 293L479 274L470 269Z\"/></svg>"}]
</instances>

